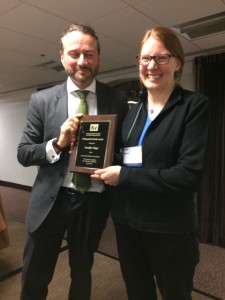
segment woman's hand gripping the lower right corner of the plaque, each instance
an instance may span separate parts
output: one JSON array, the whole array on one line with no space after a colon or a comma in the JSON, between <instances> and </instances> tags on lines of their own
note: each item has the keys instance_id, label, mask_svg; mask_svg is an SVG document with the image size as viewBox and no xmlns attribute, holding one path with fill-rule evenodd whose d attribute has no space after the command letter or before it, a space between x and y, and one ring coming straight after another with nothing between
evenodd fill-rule
<instances>
[{"instance_id":1,"label":"woman's hand gripping the lower right corner of the plaque","mask_svg":"<svg viewBox=\"0 0 225 300\"><path fill-rule=\"evenodd\" d=\"M110 166L105 169L99 169L91 175L91 178L101 179L105 184L116 186L119 183L121 166Z\"/></svg>"}]
</instances>

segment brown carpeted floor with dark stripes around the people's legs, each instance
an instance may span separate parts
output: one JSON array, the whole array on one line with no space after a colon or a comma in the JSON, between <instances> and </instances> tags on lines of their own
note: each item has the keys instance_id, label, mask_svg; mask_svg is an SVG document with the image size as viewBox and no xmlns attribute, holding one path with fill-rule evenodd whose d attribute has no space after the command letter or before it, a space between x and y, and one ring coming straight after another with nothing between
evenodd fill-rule
<instances>
[{"instance_id":1,"label":"brown carpeted floor with dark stripes around the people's legs","mask_svg":"<svg viewBox=\"0 0 225 300\"><path fill-rule=\"evenodd\" d=\"M10 236L10 246L0 250L0 299L19 300L22 254L26 237L24 216L29 192L0 186ZM16 199L16 200L15 200ZM69 269L66 242L62 245L48 300L66 300ZM193 300L225 299L225 249L200 245L201 263L195 275ZM213 267L212 267L213 266ZM222 266L222 267L221 267ZM221 271L224 270L224 273ZM114 228L109 219L93 268L92 300L126 300L115 244ZM32 299L31 299L32 300ZM140 299L142 300L142 299ZM162 298L159 295L159 300ZM182 300L182 299L174 299Z\"/></svg>"}]
</instances>

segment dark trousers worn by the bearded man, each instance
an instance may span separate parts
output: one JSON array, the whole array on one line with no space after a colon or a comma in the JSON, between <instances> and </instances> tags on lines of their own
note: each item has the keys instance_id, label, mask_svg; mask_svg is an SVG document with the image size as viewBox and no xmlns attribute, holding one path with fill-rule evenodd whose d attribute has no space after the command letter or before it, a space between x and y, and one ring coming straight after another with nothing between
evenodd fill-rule
<instances>
[{"instance_id":1,"label":"dark trousers worn by the bearded man","mask_svg":"<svg viewBox=\"0 0 225 300\"><path fill-rule=\"evenodd\" d=\"M71 285L69 300L91 298L91 269L109 215L106 193L72 194L61 189L43 224L24 250L21 300L44 300L62 240L67 233Z\"/></svg>"}]
</instances>

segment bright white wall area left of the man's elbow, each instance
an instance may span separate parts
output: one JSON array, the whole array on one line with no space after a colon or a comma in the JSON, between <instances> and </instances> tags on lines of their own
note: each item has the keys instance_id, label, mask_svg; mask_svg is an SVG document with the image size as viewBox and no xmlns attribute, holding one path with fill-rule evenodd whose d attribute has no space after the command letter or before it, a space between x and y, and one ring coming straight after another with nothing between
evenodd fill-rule
<instances>
[{"instance_id":1,"label":"bright white wall area left of the man's elbow","mask_svg":"<svg viewBox=\"0 0 225 300\"><path fill-rule=\"evenodd\" d=\"M32 186L36 167L24 168L17 162L17 145L26 122L32 91L0 98L0 180Z\"/></svg>"}]
</instances>

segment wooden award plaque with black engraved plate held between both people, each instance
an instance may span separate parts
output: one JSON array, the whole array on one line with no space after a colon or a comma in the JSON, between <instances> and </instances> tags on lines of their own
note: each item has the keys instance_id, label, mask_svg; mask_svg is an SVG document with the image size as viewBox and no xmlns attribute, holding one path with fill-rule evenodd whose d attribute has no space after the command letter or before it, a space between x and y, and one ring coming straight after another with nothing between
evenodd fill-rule
<instances>
[{"instance_id":1,"label":"wooden award plaque with black engraved plate held between both people","mask_svg":"<svg viewBox=\"0 0 225 300\"><path fill-rule=\"evenodd\" d=\"M83 115L72 152L71 172L94 173L112 164L117 115Z\"/></svg>"}]
</instances>

